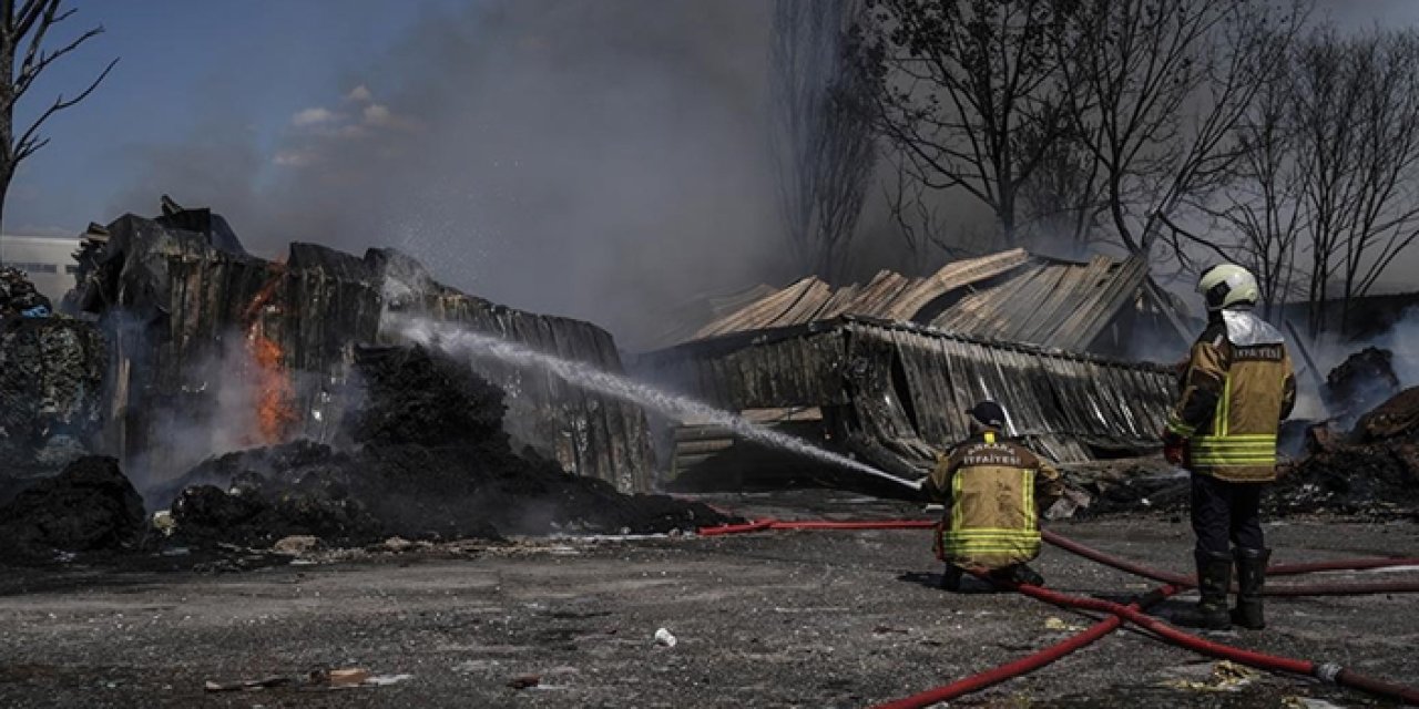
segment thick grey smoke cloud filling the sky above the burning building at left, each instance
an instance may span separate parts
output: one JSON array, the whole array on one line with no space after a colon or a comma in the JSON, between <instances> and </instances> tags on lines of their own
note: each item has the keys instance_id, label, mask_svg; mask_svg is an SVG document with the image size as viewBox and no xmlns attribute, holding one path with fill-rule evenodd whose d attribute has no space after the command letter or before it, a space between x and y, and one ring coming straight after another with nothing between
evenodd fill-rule
<instances>
[{"instance_id":1,"label":"thick grey smoke cloud filling the sky above the burning building at left","mask_svg":"<svg viewBox=\"0 0 1419 709\"><path fill-rule=\"evenodd\" d=\"M159 193L226 213L250 248L403 248L440 279L596 320L634 347L668 306L779 282L769 3L494 1L427 16L311 96L282 145L209 118L152 146Z\"/></svg>"}]
</instances>

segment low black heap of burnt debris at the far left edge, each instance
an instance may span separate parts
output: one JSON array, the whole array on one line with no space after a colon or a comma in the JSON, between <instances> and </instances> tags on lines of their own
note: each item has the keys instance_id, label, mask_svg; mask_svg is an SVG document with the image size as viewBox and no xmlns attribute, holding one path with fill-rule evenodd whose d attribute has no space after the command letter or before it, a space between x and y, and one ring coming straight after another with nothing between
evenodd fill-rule
<instances>
[{"instance_id":1,"label":"low black heap of burnt debris at the far left edge","mask_svg":"<svg viewBox=\"0 0 1419 709\"><path fill-rule=\"evenodd\" d=\"M143 537L143 499L118 461L91 455L0 506L0 557L129 549Z\"/></svg>"}]
</instances>

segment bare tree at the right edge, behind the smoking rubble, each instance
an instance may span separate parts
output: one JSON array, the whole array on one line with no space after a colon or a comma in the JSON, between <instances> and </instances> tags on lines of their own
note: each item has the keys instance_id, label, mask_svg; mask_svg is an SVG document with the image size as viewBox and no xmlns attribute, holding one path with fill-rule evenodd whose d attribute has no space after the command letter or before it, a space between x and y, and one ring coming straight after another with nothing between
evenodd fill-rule
<instances>
[{"instance_id":1,"label":"bare tree at the right edge, behind the smoking rubble","mask_svg":"<svg viewBox=\"0 0 1419 709\"><path fill-rule=\"evenodd\" d=\"M1419 34L1340 37L1323 28L1297 52L1293 111L1310 274L1307 325L1345 332L1369 292L1419 238ZM1338 294L1332 292L1338 288Z\"/></svg>"}]
</instances>

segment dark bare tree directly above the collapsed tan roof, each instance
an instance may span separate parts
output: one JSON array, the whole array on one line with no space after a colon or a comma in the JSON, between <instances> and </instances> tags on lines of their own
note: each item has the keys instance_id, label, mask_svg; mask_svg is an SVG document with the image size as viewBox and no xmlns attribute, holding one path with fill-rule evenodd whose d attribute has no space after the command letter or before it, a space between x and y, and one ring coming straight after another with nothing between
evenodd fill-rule
<instances>
[{"instance_id":1,"label":"dark bare tree directly above the collapsed tan roof","mask_svg":"<svg viewBox=\"0 0 1419 709\"><path fill-rule=\"evenodd\" d=\"M927 190L959 189L1017 241L1019 194L1064 128L1053 0L874 0L878 130ZM1026 133L1026 130L1029 133ZM1022 140L1025 135L1036 139Z\"/></svg>"}]
</instances>

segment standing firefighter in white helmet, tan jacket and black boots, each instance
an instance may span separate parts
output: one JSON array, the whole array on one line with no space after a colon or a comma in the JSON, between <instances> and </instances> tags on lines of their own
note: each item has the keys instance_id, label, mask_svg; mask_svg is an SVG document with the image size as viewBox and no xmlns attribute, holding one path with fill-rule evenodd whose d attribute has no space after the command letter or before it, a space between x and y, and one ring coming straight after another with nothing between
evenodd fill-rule
<instances>
[{"instance_id":1,"label":"standing firefighter in white helmet, tan jacket and black boots","mask_svg":"<svg viewBox=\"0 0 1419 709\"><path fill-rule=\"evenodd\" d=\"M1261 539L1259 506L1263 484L1276 479L1276 432L1296 404L1296 377L1281 333L1252 313L1257 286L1247 269L1212 267L1202 272L1198 292L1208 301L1208 329L1192 346L1182 396L1164 432L1164 455L1192 472L1202 597L1183 621L1260 630L1271 552ZM1237 607L1229 614L1233 560Z\"/></svg>"}]
</instances>

